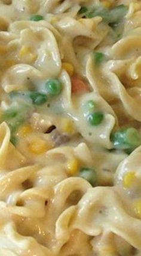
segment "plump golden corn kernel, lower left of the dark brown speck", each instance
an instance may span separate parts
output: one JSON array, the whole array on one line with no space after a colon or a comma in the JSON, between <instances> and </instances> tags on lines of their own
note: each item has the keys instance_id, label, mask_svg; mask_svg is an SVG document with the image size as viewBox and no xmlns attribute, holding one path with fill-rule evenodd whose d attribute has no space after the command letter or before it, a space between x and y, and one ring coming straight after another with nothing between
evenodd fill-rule
<instances>
[{"instance_id":1,"label":"plump golden corn kernel, lower left of the dark brown speck","mask_svg":"<svg viewBox=\"0 0 141 256\"><path fill-rule=\"evenodd\" d=\"M47 151L47 142L34 138L29 142L29 150L34 154L43 154Z\"/></svg>"}]
</instances>

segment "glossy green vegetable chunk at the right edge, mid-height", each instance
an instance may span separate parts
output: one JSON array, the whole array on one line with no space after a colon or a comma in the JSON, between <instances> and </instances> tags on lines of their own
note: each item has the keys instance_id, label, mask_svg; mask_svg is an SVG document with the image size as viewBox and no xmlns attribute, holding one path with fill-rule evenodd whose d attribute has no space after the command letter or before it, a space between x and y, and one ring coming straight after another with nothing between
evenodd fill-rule
<instances>
[{"instance_id":1,"label":"glossy green vegetable chunk at the right edge, mid-height","mask_svg":"<svg viewBox=\"0 0 141 256\"><path fill-rule=\"evenodd\" d=\"M114 148L132 150L141 144L139 132L134 128L125 128L111 134Z\"/></svg>"}]
</instances>

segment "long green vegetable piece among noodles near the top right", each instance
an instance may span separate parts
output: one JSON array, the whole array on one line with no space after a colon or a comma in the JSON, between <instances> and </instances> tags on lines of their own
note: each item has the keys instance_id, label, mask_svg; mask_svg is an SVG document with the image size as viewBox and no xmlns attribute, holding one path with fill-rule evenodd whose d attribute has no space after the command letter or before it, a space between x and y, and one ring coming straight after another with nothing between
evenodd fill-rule
<instances>
[{"instance_id":1,"label":"long green vegetable piece among noodles near the top right","mask_svg":"<svg viewBox=\"0 0 141 256\"><path fill-rule=\"evenodd\" d=\"M124 5L118 5L117 7L108 10L106 8L93 8L93 10L88 11L85 16L87 18L92 18L96 16L102 17L103 21L106 23L118 23L126 14L128 8Z\"/></svg>"}]
</instances>

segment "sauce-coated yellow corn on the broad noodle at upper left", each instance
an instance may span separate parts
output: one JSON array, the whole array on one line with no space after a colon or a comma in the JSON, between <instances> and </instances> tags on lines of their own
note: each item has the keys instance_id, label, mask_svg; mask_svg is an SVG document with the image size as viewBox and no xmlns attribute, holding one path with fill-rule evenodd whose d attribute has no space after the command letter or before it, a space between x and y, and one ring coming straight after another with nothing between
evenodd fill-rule
<instances>
[{"instance_id":1,"label":"sauce-coated yellow corn on the broad noodle at upper left","mask_svg":"<svg viewBox=\"0 0 141 256\"><path fill-rule=\"evenodd\" d=\"M36 53L32 53L29 47L23 46L19 52L20 58L26 58L28 62L34 62L37 58Z\"/></svg>"}]
</instances>

